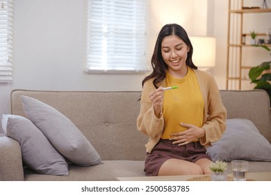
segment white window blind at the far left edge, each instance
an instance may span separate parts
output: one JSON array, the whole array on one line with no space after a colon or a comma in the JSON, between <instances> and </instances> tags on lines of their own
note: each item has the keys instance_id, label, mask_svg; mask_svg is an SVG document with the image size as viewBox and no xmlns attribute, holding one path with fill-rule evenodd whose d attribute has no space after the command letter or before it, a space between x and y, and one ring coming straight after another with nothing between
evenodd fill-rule
<instances>
[{"instance_id":1,"label":"white window blind at the far left edge","mask_svg":"<svg viewBox=\"0 0 271 195\"><path fill-rule=\"evenodd\" d=\"M13 81L13 0L0 0L0 82Z\"/></svg>"}]
</instances>

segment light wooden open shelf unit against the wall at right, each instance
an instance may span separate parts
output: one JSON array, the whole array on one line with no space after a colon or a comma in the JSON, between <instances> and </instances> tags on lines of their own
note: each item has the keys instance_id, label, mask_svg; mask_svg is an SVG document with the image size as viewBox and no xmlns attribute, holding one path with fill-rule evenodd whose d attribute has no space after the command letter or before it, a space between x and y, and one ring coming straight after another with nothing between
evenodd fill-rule
<instances>
[{"instance_id":1,"label":"light wooden open shelf unit against the wall at right","mask_svg":"<svg viewBox=\"0 0 271 195\"><path fill-rule=\"evenodd\" d=\"M258 3L258 1L255 0L255 3ZM244 38L245 40L250 38L249 32L243 32L243 17L247 13L271 13L271 8L244 8L244 0L229 0L227 89L242 90L242 81L249 81L247 78L248 75L246 78L244 78L243 75L243 70L249 71L251 68L247 65L243 65L243 49L254 46L248 45L247 42L244 41ZM254 29L254 26L252 26L252 29ZM266 37L267 34L257 33L257 36ZM271 44L267 46L271 47Z\"/></svg>"}]
</instances>

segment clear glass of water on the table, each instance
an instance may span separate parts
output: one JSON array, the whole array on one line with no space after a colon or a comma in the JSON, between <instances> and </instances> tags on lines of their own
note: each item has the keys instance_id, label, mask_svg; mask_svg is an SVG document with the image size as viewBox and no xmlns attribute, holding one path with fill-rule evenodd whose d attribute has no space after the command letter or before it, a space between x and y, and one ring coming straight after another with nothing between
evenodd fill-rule
<instances>
[{"instance_id":1,"label":"clear glass of water on the table","mask_svg":"<svg viewBox=\"0 0 271 195\"><path fill-rule=\"evenodd\" d=\"M231 161L233 181L247 180L248 165L249 165L249 162L247 162L245 160Z\"/></svg>"}]
</instances>

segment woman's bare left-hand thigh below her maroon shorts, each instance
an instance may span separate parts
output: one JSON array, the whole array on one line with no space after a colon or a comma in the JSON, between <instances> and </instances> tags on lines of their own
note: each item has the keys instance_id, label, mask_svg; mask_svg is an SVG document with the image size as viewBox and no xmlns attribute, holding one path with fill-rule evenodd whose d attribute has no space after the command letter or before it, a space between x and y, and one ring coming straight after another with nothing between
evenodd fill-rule
<instances>
[{"instance_id":1,"label":"woman's bare left-hand thigh below her maroon shorts","mask_svg":"<svg viewBox=\"0 0 271 195\"><path fill-rule=\"evenodd\" d=\"M201 165L205 166L206 162L201 161L199 164L195 164L181 159L168 159L159 169L158 176L202 175L204 169Z\"/></svg>"}]
</instances>

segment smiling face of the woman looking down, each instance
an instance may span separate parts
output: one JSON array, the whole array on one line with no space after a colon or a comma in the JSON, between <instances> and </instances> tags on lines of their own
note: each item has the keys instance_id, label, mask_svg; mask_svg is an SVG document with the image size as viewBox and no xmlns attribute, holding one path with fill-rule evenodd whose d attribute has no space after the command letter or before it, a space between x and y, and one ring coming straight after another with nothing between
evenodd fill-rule
<instances>
[{"instance_id":1,"label":"smiling face of the woman looking down","mask_svg":"<svg viewBox=\"0 0 271 195\"><path fill-rule=\"evenodd\" d=\"M186 59L189 52L189 47L178 36L167 36L161 43L161 53L163 60L168 65L168 72L171 75L176 75L187 71Z\"/></svg>"}]
</instances>

